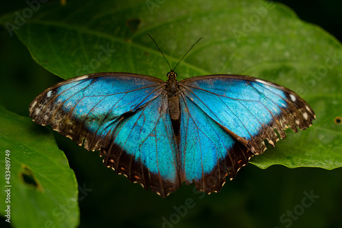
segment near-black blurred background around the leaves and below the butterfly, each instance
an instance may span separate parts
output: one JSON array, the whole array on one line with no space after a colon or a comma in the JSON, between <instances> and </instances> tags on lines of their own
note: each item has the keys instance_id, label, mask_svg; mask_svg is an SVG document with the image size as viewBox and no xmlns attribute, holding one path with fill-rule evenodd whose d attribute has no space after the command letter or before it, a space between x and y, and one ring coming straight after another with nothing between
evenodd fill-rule
<instances>
[{"instance_id":1,"label":"near-black blurred background around the leaves and below the butterfly","mask_svg":"<svg viewBox=\"0 0 342 228\"><path fill-rule=\"evenodd\" d=\"M306 22L326 29L342 40L342 1L279 1L294 10ZM0 14L25 8L25 1L1 3ZM0 27L0 97L12 112L28 116L29 103L61 79L52 75L31 58L16 36L10 37ZM55 134L75 170L80 191L80 227L161 227L163 217L170 220L176 208L187 198L194 207L179 216L176 225L164 227L285 227L279 218L302 202L304 192L319 195L291 227L342 227L342 170L319 168L289 169L271 166L261 170L253 165L243 168L234 181L226 183L219 194L200 198L193 186L182 186L166 199L142 190L126 177L103 166L97 152L88 152L68 138ZM38 219L38 218L37 218ZM3 219L0 226L8 226Z\"/></svg>"}]
</instances>

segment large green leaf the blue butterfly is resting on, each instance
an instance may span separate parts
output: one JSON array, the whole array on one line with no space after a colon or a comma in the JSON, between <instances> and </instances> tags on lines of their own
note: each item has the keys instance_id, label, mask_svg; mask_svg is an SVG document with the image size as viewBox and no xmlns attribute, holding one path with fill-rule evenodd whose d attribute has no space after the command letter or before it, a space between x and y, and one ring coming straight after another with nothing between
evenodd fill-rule
<instances>
[{"instance_id":1,"label":"large green leaf the blue butterfly is resting on","mask_svg":"<svg viewBox=\"0 0 342 228\"><path fill-rule=\"evenodd\" d=\"M16 25L15 19L1 21ZM180 79L218 73L267 79L298 92L317 114L312 127L296 135L287 130L286 140L253 157L252 164L342 166L342 125L334 123L342 115L341 44L282 4L77 0L44 3L17 27L34 60L64 79L103 71L166 79L168 65L146 34L171 66L202 37L177 66Z\"/></svg>"}]
</instances>

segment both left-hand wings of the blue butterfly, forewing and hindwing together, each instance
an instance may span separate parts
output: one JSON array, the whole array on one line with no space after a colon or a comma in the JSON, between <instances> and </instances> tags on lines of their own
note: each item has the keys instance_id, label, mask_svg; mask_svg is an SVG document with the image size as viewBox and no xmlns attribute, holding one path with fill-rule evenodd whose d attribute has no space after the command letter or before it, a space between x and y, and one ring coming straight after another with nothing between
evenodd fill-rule
<instances>
[{"instance_id":1,"label":"both left-hand wings of the blue butterfly, forewing and hindwing together","mask_svg":"<svg viewBox=\"0 0 342 228\"><path fill-rule=\"evenodd\" d=\"M179 186L167 101L155 77L96 73L44 90L29 111L36 123L101 150L106 166L166 197Z\"/></svg>"}]
</instances>

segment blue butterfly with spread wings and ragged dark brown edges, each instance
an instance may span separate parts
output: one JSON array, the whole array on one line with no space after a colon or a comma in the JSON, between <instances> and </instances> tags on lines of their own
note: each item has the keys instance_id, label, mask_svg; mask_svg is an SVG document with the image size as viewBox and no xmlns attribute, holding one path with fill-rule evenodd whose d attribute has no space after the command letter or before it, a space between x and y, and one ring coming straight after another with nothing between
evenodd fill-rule
<instances>
[{"instance_id":1,"label":"blue butterfly with spread wings and ragged dark brown edges","mask_svg":"<svg viewBox=\"0 0 342 228\"><path fill-rule=\"evenodd\" d=\"M265 151L263 140L274 146L284 129L297 132L315 119L298 94L269 81L176 77L174 70L167 81L133 73L75 77L38 95L30 116L101 151L105 166L161 197L183 182L219 192L227 176Z\"/></svg>"}]
</instances>

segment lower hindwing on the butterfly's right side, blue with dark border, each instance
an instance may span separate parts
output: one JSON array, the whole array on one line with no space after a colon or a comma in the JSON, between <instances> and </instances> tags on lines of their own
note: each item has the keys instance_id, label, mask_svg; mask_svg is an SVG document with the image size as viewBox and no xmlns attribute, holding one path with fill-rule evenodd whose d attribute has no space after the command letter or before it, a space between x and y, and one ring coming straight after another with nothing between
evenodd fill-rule
<instances>
[{"instance_id":1,"label":"lower hindwing on the butterfly's right side, blue with dark border","mask_svg":"<svg viewBox=\"0 0 342 228\"><path fill-rule=\"evenodd\" d=\"M185 183L207 193L218 192L226 175L233 179L252 153L226 134L192 99L182 95L181 140L179 143L181 173Z\"/></svg>"}]
</instances>

